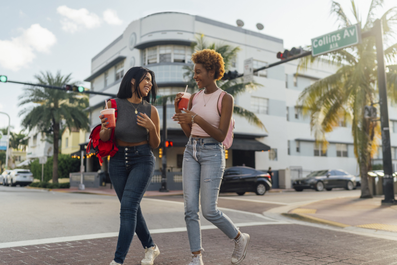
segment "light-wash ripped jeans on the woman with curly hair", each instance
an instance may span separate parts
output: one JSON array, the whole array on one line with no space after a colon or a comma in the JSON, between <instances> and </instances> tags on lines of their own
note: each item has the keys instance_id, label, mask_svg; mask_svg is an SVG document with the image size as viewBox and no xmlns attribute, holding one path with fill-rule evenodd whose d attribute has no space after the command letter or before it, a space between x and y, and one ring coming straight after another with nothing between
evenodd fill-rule
<instances>
[{"instance_id":1,"label":"light-wash ripped jeans on the woman with curly hair","mask_svg":"<svg viewBox=\"0 0 397 265\"><path fill-rule=\"evenodd\" d=\"M229 217L216 206L224 170L225 150L222 143L214 138L189 138L183 156L182 175L185 221L192 252L202 250L199 198L205 219L230 239L239 233Z\"/></svg>"}]
</instances>

